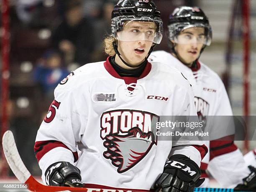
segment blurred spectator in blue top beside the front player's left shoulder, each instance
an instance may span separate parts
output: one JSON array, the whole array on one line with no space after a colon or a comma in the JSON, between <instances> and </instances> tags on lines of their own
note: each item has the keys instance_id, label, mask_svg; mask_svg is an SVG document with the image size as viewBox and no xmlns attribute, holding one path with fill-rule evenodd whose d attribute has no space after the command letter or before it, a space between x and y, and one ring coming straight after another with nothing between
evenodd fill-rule
<instances>
[{"instance_id":1,"label":"blurred spectator in blue top beside the front player's left shoulder","mask_svg":"<svg viewBox=\"0 0 256 192\"><path fill-rule=\"evenodd\" d=\"M34 80L39 83L45 96L53 100L54 88L68 75L69 71L62 66L60 53L50 50L39 59L34 71Z\"/></svg>"}]
</instances>

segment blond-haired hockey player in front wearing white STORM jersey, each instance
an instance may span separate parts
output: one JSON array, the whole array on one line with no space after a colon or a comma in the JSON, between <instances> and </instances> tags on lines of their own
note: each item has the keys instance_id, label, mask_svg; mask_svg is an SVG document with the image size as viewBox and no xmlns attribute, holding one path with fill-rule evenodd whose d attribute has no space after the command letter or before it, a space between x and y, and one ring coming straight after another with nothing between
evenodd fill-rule
<instances>
[{"instance_id":1,"label":"blond-haired hockey player in front wearing white STORM jersey","mask_svg":"<svg viewBox=\"0 0 256 192\"><path fill-rule=\"evenodd\" d=\"M160 116L197 115L182 74L147 61L161 42L160 12L152 0L120 0L111 26L107 61L78 68L54 91L34 147L42 179L54 186L192 192L202 183L207 148L156 135Z\"/></svg>"}]
</instances>

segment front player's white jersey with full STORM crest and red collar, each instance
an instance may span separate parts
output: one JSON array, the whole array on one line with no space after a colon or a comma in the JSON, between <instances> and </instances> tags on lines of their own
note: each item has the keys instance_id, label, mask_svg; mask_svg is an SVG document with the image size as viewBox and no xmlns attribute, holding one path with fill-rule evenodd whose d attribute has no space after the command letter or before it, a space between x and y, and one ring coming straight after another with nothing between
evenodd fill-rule
<instances>
[{"instance_id":1,"label":"front player's white jersey with full STORM crest and red collar","mask_svg":"<svg viewBox=\"0 0 256 192\"><path fill-rule=\"evenodd\" d=\"M84 183L128 189L150 189L170 152L200 166L202 141L156 136L160 116L197 115L189 82L169 68L147 63L141 77L120 77L108 58L61 81L36 136L43 181L46 169L60 161L77 160Z\"/></svg>"}]
</instances>

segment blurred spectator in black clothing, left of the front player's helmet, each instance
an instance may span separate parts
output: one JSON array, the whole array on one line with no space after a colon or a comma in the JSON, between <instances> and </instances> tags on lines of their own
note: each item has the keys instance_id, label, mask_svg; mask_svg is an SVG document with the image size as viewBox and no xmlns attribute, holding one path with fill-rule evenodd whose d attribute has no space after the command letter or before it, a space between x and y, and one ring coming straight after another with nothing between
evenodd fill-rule
<instances>
[{"instance_id":1,"label":"blurred spectator in black clothing, left of the front player's helmet","mask_svg":"<svg viewBox=\"0 0 256 192\"><path fill-rule=\"evenodd\" d=\"M54 48L64 53L66 63L90 63L94 50L94 30L91 22L83 17L80 1L70 0L65 18L52 35Z\"/></svg>"}]
</instances>

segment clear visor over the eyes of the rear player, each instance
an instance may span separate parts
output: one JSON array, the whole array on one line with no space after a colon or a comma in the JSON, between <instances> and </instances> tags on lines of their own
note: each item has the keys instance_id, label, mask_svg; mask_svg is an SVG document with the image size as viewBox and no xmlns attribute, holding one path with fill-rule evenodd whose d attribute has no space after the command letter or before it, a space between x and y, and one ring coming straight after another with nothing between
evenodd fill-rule
<instances>
[{"instance_id":1,"label":"clear visor over the eyes of the rear player","mask_svg":"<svg viewBox=\"0 0 256 192\"><path fill-rule=\"evenodd\" d=\"M200 25L187 25L179 35L173 37L174 43L177 44L203 44L210 45L212 41L211 31L208 28L205 33L205 26Z\"/></svg>"}]
</instances>

